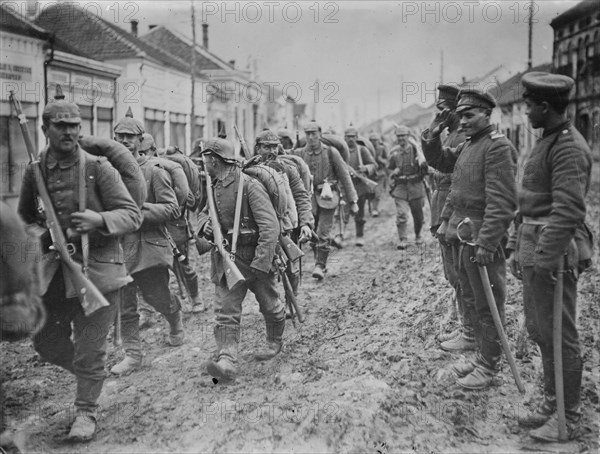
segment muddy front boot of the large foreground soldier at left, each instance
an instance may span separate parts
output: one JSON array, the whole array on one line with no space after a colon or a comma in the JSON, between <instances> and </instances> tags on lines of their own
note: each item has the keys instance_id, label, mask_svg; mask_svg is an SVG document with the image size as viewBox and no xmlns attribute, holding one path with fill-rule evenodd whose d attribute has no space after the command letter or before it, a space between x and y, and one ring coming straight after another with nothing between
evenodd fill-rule
<instances>
[{"instance_id":1,"label":"muddy front boot of the large foreground soldier at left","mask_svg":"<svg viewBox=\"0 0 600 454\"><path fill-rule=\"evenodd\" d=\"M98 398L104 380L88 380L77 377L75 398L75 421L67 438L73 442L90 441L96 433Z\"/></svg>"}]
</instances>

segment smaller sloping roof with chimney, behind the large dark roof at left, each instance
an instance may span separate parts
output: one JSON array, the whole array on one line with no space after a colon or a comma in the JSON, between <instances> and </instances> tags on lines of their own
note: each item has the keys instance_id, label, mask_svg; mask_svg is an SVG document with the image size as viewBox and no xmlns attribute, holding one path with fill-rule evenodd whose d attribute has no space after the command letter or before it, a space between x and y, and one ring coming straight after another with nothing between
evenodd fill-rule
<instances>
[{"instance_id":1,"label":"smaller sloping roof with chimney, behind the large dark roof at left","mask_svg":"<svg viewBox=\"0 0 600 454\"><path fill-rule=\"evenodd\" d=\"M162 25L153 28L145 35L141 36L143 41L175 55L183 61L192 60L192 42L187 38L163 27ZM221 60L219 57L208 50L196 44L196 68L198 70L210 69L233 69L229 63Z\"/></svg>"}]
</instances>

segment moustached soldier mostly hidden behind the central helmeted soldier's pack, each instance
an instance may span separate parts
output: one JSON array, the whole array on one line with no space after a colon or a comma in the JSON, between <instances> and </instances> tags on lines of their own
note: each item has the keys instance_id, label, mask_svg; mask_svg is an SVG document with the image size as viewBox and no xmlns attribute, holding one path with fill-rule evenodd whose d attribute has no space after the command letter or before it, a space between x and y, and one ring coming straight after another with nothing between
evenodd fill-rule
<instances>
[{"instance_id":1,"label":"moustached soldier mostly hidden behind the central helmeted soldier's pack","mask_svg":"<svg viewBox=\"0 0 600 454\"><path fill-rule=\"evenodd\" d=\"M300 230L298 237L310 238L312 229L315 226L310 197L308 196L308 191L304 187L304 183L302 182L296 167L291 163L286 163L284 158L278 158L277 153L280 146L281 142L279 137L270 130L266 130L256 136L254 152L261 156L262 162L266 165L285 172L287 175L298 214L298 229ZM282 233L291 235L292 232ZM288 273L294 294L297 294L298 284L300 282L300 270L292 272L292 268L288 266L286 272Z\"/></svg>"}]
</instances>

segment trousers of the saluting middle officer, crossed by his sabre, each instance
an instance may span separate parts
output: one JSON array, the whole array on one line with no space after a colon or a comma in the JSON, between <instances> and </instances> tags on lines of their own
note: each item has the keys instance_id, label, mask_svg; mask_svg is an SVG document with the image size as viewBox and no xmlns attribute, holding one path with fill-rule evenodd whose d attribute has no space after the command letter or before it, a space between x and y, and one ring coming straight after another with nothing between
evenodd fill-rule
<instances>
[{"instance_id":1,"label":"trousers of the saluting middle officer, crossed by his sabre","mask_svg":"<svg viewBox=\"0 0 600 454\"><path fill-rule=\"evenodd\" d=\"M472 246L461 245L459 247L460 269L459 280L463 290L463 300L469 298L469 289L472 292L472 301L475 308L475 340L479 348L479 358L484 365L490 369L495 369L502 348L500 346L500 336L496 330L494 319L490 311L481 275L479 274L479 265L475 260L475 248ZM494 302L498 308L502 324L505 323L504 303L506 300L506 259L501 248L496 250L494 262L487 265L487 272L492 286ZM468 305L469 303L467 303ZM465 314L466 315L466 314Z\"/></svg>"}]
</instances>

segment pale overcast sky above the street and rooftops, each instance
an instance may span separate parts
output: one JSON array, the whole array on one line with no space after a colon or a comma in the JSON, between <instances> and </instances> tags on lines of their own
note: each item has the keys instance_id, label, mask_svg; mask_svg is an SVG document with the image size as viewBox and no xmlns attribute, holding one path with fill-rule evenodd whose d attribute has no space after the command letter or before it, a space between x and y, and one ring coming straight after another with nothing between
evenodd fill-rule
<instances>
[{"instance_id":1,"label":"pale overcast sky above the street and rooftops","mask_svg":"<svg viewBox=\"0 0 600 454\"><path fill-rule=\"evenodd\" d=\"M191 36L191 2L101 2L117 23L139 19L140 34L160 24ZM318 99L324 124L363 122L412 103L431 104L441 78L460 82L498 65L527 67L529 1L195 1L197 40L204 20L209 49L263 81L286 86L297 102ZM550 62L550 21L577 0L534 1L533 64ZM109 9L112 10L109 11ZM315 80L319 79L316 94ZM404 85L403 85L404 84ZM296 88L302 92L298 93ZM311 88L312 87L312 88ZM418 88L416 88L418 87ZM409 91L418 92L408 95ZM429 90L429 92L427 91ZM343 127L336 125L336 127Z\"/></svg>"}]
</instances>

